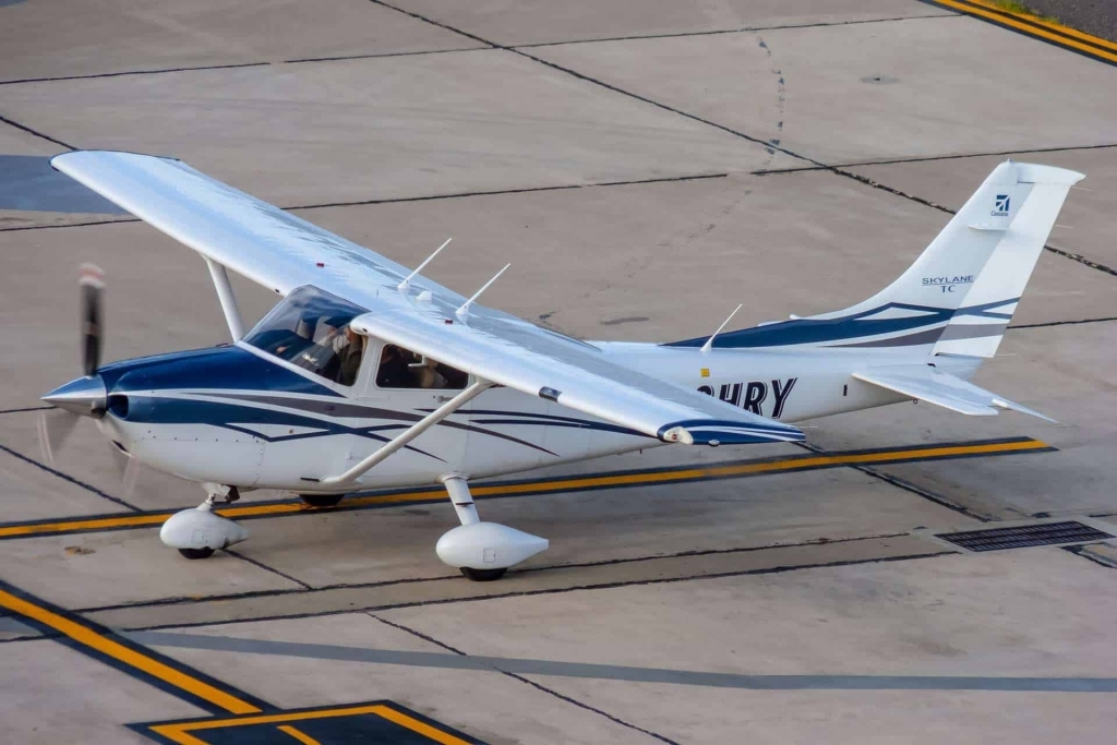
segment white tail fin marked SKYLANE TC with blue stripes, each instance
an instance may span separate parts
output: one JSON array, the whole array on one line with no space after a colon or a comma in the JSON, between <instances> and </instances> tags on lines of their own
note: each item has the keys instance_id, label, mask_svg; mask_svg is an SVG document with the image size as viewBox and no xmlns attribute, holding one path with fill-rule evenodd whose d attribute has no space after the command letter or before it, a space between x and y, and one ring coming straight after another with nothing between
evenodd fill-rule
<instances>
[{"instance_id":1,"label":"white tail fin marked SKYLANE TC with blue stripes","mask_svg":"<svg viewBox=\"0 0 1117 745\"><path fill-rule=\"evenodd\" d=\"M884 290L844 311L724 333L714 346L911 347L991 357L1067 193L1082 178L1049 165L1001 163Z\"/></svg>"}]
</instances>

